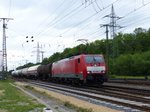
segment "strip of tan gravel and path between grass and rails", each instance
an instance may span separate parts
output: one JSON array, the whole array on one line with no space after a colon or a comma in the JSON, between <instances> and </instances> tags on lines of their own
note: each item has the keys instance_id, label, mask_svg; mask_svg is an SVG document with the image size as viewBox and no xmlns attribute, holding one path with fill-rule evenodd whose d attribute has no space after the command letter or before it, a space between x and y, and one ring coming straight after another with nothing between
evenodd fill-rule
<instances>
[{"instance_id":1,"label":"strip of tan gravel and path between grass and rails","mask_svg":"<svg viewBox=\"0 0 150 112\"><path fill-rule=\"evenodd\" d=\"M77 112L76 110L73 110L71 108L68 108L64 106L63 102L70 102L73 105L76 105L77 107L82 107L86 109L92 109L92 112L119 112L114 109L110 109L104 106L95 105L77 98L73 98L70 96L65 96L53 91L48 91L43 88L34 87L34 90L32 89L22 89L23 86L27 85L25 83L16 83L19 85L18 87L24 91L26 94L34 97L37 99L40 103L46 105L46 107L53 110L53 112ZM36 90L36 91L35 91ZM38 92L37 92L38 91ZM37 110L33 112L38 112ZM80 112L80 111L78 111Z\"/></svg>"}]
</instances>

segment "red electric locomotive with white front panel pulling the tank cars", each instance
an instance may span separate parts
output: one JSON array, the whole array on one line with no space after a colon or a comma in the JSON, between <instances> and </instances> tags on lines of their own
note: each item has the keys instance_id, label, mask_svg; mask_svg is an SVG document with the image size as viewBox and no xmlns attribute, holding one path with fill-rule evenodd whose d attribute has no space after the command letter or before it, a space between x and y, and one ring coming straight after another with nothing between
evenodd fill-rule
<instances>
[{"instance_id":1,"label":"red electric locomotive with white front panel pulling the tank cars","mask_svg":"<svg viewBox=\"0 0 150 112\"><path fill-rule=\"evenodd\" d=\"M81 54L52 65L52 78L75 83L100 83L107 81L103 55Z\"/></svg>"}]
</instances>

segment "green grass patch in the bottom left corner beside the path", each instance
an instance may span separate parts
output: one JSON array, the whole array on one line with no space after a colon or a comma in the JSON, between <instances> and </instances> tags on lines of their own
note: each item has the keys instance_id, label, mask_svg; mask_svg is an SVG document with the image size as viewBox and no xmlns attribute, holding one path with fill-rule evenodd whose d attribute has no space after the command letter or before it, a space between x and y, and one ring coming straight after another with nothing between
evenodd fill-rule
<instances>
[{"instance_id":1,"label":"green grass patch in the bottom left corner beside the path","mask_svg":"<svg viewBox=\"0 0 150 112\"><path fill-rule=\"evenodd\" d=\"M35 99L28 97L10 83L12 81L0 81L0 91L2 91L0 95L0 110L6 112L29 112L37 108L42 112L44 105L35 103Z\"/></svg>"}]
</instances>

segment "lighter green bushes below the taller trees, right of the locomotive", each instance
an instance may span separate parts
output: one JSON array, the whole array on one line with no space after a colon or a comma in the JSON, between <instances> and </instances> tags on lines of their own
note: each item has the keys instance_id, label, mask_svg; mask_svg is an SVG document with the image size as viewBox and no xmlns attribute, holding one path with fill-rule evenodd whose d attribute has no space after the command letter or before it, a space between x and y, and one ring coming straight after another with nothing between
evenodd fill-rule
<instances>
[{"instance_id":1,"label":"lighter green bushes below the taller trees, right of the locomotive","mask_svg":"<svg viewBox=\"0 0 150 112\"><path fill-rule=\"evenodd\" d=\"M149 75L150 51L145 53L120 55L110 59L110 73L115 75Z\"/></svg>"}]
</instances>

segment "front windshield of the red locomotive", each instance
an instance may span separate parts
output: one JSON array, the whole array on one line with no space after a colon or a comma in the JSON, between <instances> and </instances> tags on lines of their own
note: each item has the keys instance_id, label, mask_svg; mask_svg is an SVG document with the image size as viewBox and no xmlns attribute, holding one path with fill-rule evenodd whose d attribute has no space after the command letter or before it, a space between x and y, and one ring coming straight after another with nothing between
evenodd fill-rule
<instances>
[{"instance_id":1,"label":"front windshield of the red locomotive","mask_svg":"<svg viewBox=\"0 0 150 112\"><path fill-rule=\"evenodd\" d=\"M103 63L104 59L102 56L86 56L86 63Z\"/></svg>"}]
</instances>

